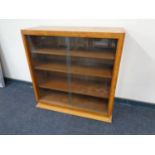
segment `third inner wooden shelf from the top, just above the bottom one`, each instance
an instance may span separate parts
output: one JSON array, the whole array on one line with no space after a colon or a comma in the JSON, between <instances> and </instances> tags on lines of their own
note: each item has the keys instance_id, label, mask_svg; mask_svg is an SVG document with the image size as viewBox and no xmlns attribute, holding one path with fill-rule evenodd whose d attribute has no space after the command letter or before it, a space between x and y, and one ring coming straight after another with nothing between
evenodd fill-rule
<instances>
[{"instance_id":1,"label":"third inner wooden shelf from the top, just above the bottom one","mask_svg":"<svg viewBox=\"0 0 155 155\"><path fill-rule=\"evenodd\" d=\"M69 88L67 79L50 79L39 85L40 88L71 92L75 94L88 95L93 97L108 98L109 88L106 83L95 83L86 80L71 79Z\"/></svg>"}]
</instances>

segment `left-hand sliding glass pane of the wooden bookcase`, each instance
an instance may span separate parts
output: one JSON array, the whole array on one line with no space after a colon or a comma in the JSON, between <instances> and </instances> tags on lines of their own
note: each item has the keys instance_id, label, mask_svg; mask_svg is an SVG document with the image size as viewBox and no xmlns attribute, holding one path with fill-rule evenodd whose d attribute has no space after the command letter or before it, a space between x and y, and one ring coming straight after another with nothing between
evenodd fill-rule
<instances>
[{"instance_id":1,"label":"left-hand sliding glass pane of the wooden bookcase","mask_svg":"<svg viewBox=\"0 0 155 155\"><path fill-rule=\"evenodd\" d=\"M27 39L40 100L49 104L68 104L66 38L29 36Z\"/></svg>"}]
</instances>

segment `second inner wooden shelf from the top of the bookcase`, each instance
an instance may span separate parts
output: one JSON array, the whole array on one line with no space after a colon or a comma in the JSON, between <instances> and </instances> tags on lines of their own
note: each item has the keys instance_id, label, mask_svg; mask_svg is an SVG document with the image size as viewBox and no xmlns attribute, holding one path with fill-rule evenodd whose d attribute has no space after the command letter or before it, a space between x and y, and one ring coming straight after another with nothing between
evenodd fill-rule
<instances>
[{"instance_id":1,"label":"second inner wooden shelf from the top of the bookcase","mask_svg":"<svg viewBox=\"0 0 155 155\"><path fill-rule=\"evenodd\" d=\"M35 67L36 70L44 71L54 71L61 73L70 73L75 75L90 76L90 77L99 77L99 78L110 78L112 77L112 71L109 68L92 68L86 66L71 66L70 70L67 68L67 65L51 62L51 63L42 63Z\"/></svg>"}]
</instances>

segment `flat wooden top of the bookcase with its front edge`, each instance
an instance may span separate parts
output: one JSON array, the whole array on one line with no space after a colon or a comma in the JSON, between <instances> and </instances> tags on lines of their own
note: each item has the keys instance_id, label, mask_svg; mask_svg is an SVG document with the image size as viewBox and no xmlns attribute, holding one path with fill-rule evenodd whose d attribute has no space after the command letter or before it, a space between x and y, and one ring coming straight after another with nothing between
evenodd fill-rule
<instances>
[{"instance_id":1,"label":"flat wooden top of the bookcase with its front edge","mask_svg":"<svg viewBox=\"0 0 155 155\"><path fill-rule=\"evenodd\" d=\"M48 26L41 26L41 27L34 27L34 28L27 28L22 29L23 34L27 35L64 35L64 36L82 36L82 35L124 35L125 31L121 27L48 27Z\"/></svg>"}]
</instances>

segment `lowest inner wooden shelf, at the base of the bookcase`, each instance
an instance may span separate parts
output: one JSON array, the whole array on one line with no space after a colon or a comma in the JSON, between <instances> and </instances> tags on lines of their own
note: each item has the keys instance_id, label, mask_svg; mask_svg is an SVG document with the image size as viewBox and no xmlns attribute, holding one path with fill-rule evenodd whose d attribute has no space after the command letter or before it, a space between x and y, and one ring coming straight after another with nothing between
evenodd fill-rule
<instances>
[{"instance_id":1,"label":"lowest inner wooden shelf, at the base of the bookcase","mask_svg":"<svg viewBox=\"0 0 155 155\"><path fill-rule=\"evenodd\" d=\"M72 95L71 102L69 97L65 93L52 92L46 93L39 99L39 102L43 102L49 105L66 107L71 109L78 109L92 113L98 113L101 115L107 115L107 103L105 100L96 99L92 97L83 97L78 95Z\"/></svg>"}]
</instances>

